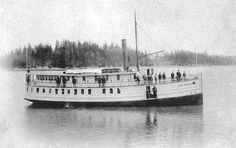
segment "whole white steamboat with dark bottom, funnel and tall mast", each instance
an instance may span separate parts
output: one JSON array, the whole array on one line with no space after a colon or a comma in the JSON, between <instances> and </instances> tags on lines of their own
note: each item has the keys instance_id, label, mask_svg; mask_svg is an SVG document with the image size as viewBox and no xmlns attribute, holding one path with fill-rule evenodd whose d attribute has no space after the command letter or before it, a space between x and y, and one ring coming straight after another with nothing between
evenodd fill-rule
<instances>
[{"instance_id":1,"label":"whole white steamboat with dark bottom, funnel and tall mast","mask_svg":"<svg viewBox=\"0 0 236 148\"><path fill-rule=\"evenodd\" d=\"M43 106L180 106L203 104L202 75L157 79L153 67L140 70L135 15L136 70L79 69L26 73L25 100Z\"/></svg>"}]
</instances>

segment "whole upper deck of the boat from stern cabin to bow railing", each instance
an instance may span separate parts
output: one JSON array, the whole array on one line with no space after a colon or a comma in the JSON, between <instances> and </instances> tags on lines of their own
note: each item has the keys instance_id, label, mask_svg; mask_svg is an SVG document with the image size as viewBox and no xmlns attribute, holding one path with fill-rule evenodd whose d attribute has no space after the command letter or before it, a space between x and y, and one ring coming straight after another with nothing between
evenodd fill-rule
<instances>
[{"instance_id":1,"label":"whole upper deck of the boat from stern cabin to bow railing","mask_svg":"<svg viewBox=\"0 0 236 148\"><path fill-rule=\"evenodd\" d=\"M26 74L26 85L33 87L67 87L67 88L90 88L90 87L122 87L135 85L152 85L177 83L200 79L201 75L188 75L185 78L158 80L153 73L141 75L138 72L126 71L31 71ZM145 78L146 77L146 78Z\"/></svg>"}]
</instances>

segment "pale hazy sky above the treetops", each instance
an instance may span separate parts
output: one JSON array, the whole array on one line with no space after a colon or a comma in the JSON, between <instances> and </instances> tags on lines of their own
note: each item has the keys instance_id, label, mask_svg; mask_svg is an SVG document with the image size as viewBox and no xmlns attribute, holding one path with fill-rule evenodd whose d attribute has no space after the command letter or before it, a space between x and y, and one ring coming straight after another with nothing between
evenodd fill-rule
<instances>
[{"instance_id":1,"label":"pale hazy sky above the treetops","mask_svg":"<svg viewBox=\"0 0 236 148\"><path fill-rule=\"evenodd\" d=\"M56 40L236 55L235 0L0 0L0 54Z\"/></svg>"}]
</instances>

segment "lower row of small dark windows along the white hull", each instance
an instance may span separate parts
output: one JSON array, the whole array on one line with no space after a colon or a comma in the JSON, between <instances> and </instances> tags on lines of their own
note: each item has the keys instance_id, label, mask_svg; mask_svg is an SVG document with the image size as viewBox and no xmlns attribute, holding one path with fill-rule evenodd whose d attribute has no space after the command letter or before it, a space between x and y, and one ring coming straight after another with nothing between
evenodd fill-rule
<instances>
[{"instance_id":1,"label":"lower row of small dark windows along the white hull","mask_svg":"<svg viewBox=\"0 0 236 148\"><path fill-rule=\"evenodd\" d=\"M70 94L70 93L71 93L71 90L70 90L70 89L57 89L57 88L56 88L56 89L54 89L54 90L55 90L55 91L54 91L55 94L58 94L58 93L59 93L59 90L61 90L61 94L65 94L65 93ZM77 90L77 89L72 89L72 90L73 90L73 93L74 93L75 95L78 94L78 90ZM105 88L102 89L102 93L103 93L103 94L106 94L106 90L107 90L107 89L105 89ZM114 90L113 88L110 88L110 94L113 94L113 90ZM28 92L28 91L29 91L29 87L27 87L27 92ZM31 88L31 92L33 92L33 88ZM39 88L36 88L36 92L39 93ZM88 89L87 92L88 92L89 95L92 94L92 90L91 90L91 89ZM46 89L45 89L45 88L42 88L42 93L46 93ZM48 93L50 93L50 94L52 93L52 89L51 89L51 88L48 89ZM84 94L84 93L85 93L84 89L81 89L81 90L80 90L80 93L81 93L81 94ZM120 94L120 93L121 93L120 88L117 88L117 89L116 89L116 93L117 93L117 94Z\"/></svg>"}]
</instances>

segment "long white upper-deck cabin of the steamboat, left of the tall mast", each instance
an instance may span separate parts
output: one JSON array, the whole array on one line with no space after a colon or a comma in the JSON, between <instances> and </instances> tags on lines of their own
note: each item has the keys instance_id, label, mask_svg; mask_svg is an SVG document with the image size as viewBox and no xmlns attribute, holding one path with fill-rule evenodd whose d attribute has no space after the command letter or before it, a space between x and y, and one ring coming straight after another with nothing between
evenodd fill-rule
<instances>
[{"instance_id":1,"label":"long white upper-deck cabin of the steamboat, left of the tall mast","mask_svg":"<svg viewBox=\"0 0 236 148\"><path fill-rule=\"evenodd\" d=\"M137 72L106 71L57 71L27 73L28 85L47 87L99 87L126 86L136 83Z\"/></svg>"}]
</instances>

